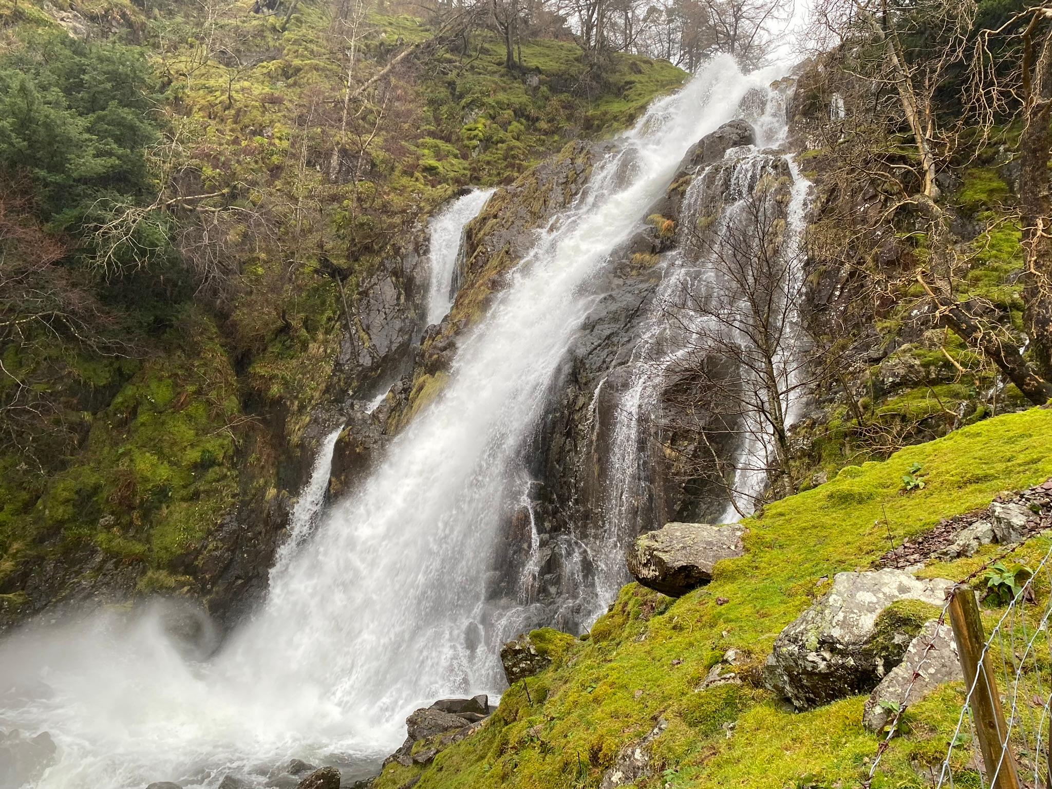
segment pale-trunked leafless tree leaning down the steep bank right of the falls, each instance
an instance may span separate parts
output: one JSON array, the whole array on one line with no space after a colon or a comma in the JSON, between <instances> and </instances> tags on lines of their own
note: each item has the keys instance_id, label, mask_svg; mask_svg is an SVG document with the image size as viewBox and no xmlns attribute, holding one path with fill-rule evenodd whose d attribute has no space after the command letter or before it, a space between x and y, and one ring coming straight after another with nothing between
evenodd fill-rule
<instances>
[{"instance_id":1,"label":"pale-trunked leafless tree leaning down the steep bank right of the falls","mask_svg":"<svg viewBox=\"0 0 1052 789\"><path fill-rule=\"evenodd\" d=\"M825 216L814 234L823 255L868 278L875 303L915 301L914 315L949 327L1028 399L1046 402L1050 379L1020 352L1002 310L970 291L979 250L959 243L938 202L939 170L969 155L963 136L982 125L975 114L938 106L948 69L964 59L971 0L894 8L884 0L876 8L827 2L816 14L817 33L838 42L822 56L827 109L814 114L812 128L824 151ZM915 156L895 144L904 128Z\"/></svg>"}]
</instances>

